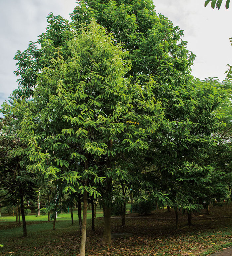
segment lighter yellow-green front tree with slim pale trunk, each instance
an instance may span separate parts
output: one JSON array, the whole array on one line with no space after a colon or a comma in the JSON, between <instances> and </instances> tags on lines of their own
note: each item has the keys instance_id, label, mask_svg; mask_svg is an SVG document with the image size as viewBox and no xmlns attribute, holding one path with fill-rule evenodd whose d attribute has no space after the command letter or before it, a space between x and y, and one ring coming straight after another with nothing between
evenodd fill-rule
<instances>
[{"instance_id":1,"label":"lighter yellow-green front tree with slim pale trunk","mask_svg":"<svg viewBox=\"0 0 232 256\"><path fill-rule=\"evenodd\" d=\"M28 155L32 162L28 170L65 181L64 192L75 193L78 185L84 196L83 255L87 192L98 196L94 184L105 177L103 242L110 243L111 182L128 168L126 161L119 168L116 160L121 153L139 154L147 149L146 137L158 128L163 114L152 93L154 81L131 83L127 52L120 44L114 45L114 38L103 27L92 21L75 31L73 24L66 23L69 40L55 45L50 33L54 26L62 28L64 21L55 22L38 40L40 56L32 60L32 64L41 65L34 76L35 86L24 84L31 74L23 69L22 54L17 55L24 87L15 94L27 93L29 87L32 99L23 95L13 112L24 112L19 134L28 148L18 153Z\"/></svg>"}]
</instances>

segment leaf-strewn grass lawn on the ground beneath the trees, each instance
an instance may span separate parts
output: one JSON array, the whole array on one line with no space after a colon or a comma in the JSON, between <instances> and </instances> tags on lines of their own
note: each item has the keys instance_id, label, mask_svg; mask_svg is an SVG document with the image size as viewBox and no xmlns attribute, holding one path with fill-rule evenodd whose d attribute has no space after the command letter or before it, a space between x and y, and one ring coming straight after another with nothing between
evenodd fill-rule
<instances>
[{"instance_id":1,"label":"leaf-strewn grass lawn on the ground beneath the trees","mask_svg":"<svg viewBox=\"0 0 232 256\"><path fill-rule=\"evenodd\" d=\"M193 225L187 226L187 214L179 214L180 229L175 230L175 213L158 210L148 216L127 214L126 226L112 218L112 233L130 232L131 237L113 239L111 245L101 245L103 235L102 210L98 209L95 232L91 230L91 214L87 214L86 255L209 255L232 246L232 204L211 207L211 215L193 214ZM88 211L90 212L90 211ZM15 218L0 218L0 255L77 255L80 231L77 212L74 225L70 213L60 214L56 230L47 216L26 216L28 237L22 238L22 224Z\"/></svg>"}]
</instances>

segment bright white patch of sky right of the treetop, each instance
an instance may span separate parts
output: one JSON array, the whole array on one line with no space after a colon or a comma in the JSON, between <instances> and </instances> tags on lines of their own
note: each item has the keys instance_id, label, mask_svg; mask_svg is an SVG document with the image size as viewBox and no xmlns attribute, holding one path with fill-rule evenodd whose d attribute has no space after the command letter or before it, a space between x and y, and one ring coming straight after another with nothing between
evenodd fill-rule
<instances>
[{"instance_id":1,"label":"bright white patch of sky right of the treetop","mask_svg":"<svg viewBox=\"0 0 232 256\"><path fill-rule=\"evenodd\" d=\"M204 0L154 0L156 11L167 16L184 32L188 49L197 55L193 75L204 79L208 76L225 78L227 64L232 64L232 9L220 10L203 7Z\"/></svg>"}]
</instances>

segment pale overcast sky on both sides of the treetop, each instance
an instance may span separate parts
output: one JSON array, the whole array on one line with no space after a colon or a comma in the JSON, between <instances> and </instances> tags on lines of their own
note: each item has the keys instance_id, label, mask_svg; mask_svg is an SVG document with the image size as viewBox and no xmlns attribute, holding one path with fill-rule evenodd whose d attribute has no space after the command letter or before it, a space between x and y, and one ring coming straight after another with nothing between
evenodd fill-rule
<instances>
[{"instance_id":1,"label":"pale overcast sky on both sides of the treetop","mask_svg":"<svg viewBox=\"0 0 232 256\"><path fill-rule=\"evenodd\" d=\"M0 105L17 88L13 60L17 50L25 50L29 41L45 31L48 13L69 18L75 0L0 0ZM227 64L232 64L232 6L226 10L203 7L204 0L153 0L161 13L185 32L188 49L197 55L193 75L204 79L225 78ZM225 2L225 0L223 1Z\"/></svg>"}]
</instances>

